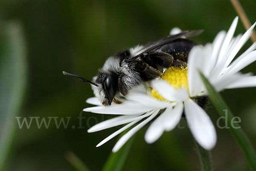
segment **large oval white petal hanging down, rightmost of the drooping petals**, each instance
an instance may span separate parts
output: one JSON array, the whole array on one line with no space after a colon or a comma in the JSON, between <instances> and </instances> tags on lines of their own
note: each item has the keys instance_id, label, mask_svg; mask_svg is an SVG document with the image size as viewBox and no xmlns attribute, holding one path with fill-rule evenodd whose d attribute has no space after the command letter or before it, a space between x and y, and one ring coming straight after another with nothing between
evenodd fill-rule
<instances>
[{"instance_id":1,"label":"large oval white petal hanging down, rightmost of the drooping petals","mask_svg":"<svg viewBox=\"0 0 256 171\"><path fill-rule=\"evenodd\" d=\"M216 131L207 113L193 100L184 102L186 120L195 140L206 150L211 150L217 140Z\"/></svg>"}]
</instances>

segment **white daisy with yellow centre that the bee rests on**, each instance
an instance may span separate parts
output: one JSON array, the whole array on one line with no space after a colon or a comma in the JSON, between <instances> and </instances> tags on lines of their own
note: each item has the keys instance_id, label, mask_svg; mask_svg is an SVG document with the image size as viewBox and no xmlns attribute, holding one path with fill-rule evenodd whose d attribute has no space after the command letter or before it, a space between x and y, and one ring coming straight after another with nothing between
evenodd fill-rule
<instances>
[{"instance_id":1,"label":"white daisy with yellow centre that the bee rests on","mask_svg":"<svg viewBox=\"0 0 256 171\"><path fill-rule=\"evenodd\" d=\"M211 150L217 137L214 125L204 111L208 99L207 91L198 71L207 77L217 91L256 86L256 76L239 72L256 60L256 43L234 60L249 39L255 23L243 35L233 37L237 22L238 17L233 20L227 33L218 33L213 43L208 43L204 47L193 47L189 53L187 67L167 69L162 79L151 81L150 86L146 88L143 85L139 86L125 97L122 104L102 106L96 97L88 99L87 103L98 106L85 108L84 111L121 115L94 125L88 132L127 124L105 138L97 147L135 125L118 140L113 148L113 152L116 152L150 121L153 122L145 133L145 141L152 143L164 131L175 128L184 114L198 144Z\"/></svg>"}]
</instances>

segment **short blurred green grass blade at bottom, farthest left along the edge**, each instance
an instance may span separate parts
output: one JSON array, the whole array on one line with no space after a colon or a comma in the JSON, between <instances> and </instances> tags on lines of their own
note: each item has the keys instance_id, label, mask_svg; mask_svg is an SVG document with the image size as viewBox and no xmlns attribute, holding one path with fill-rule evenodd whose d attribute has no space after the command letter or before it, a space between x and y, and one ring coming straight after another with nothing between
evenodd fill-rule
<instances>
[{"instance_id":1,"label":"short blurred green grass blade at bottom, farthest left along the edge","mask_svg":"<svg viewBox=\"0 0 256 171\"><path fill-rule=\"evenodd\" d=\"M90 169L81 161L72 151L67 151L67 161L76 168L77 171L90 171Z\"/></svg>"}]
</instances>

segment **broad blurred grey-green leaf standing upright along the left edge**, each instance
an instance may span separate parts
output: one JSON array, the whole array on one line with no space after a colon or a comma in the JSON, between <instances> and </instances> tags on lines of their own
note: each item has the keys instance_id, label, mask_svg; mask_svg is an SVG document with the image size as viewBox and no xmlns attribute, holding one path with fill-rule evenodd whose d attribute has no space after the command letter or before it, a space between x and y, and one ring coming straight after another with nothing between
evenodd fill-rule
<instances>
[{"instance_id":1,"label":"broad blurred grey-green leaf standing upright along the left edge","mask_svg":"<svg viewBox=\"0 0 256 171\"><path fill-rule=\"evenodd\" d=\"M0 170L6 166L26 85L26 48L17 22L0 27Z\"/></svg>"}]
</instances>

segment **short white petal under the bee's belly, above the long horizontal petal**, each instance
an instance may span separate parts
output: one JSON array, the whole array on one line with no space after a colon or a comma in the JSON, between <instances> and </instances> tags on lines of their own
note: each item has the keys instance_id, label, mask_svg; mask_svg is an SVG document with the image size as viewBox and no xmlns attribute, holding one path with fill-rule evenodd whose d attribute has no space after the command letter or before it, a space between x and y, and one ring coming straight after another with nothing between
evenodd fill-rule
<instances>
[{"instance_id":1,"label":"short white petal under the bee's belly, above the long horizontal petal","mask_svg":"<svg viewBox=\"0 0 256 171\"><path fill-rule=\"evenodd\" d=\"M167 103L165 101L160 101L155 99L154 97L151 97L147 94L143 93L130 93L126 96L128 100L132 100L135 102L142 103L143 105L149 105L154 106L154 108L166 108L170 105L170 103Z\"/></svg>"}]
</instances>

